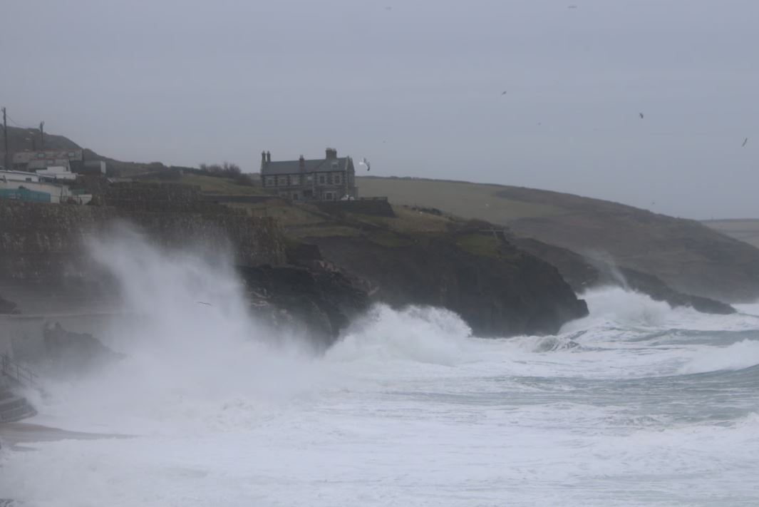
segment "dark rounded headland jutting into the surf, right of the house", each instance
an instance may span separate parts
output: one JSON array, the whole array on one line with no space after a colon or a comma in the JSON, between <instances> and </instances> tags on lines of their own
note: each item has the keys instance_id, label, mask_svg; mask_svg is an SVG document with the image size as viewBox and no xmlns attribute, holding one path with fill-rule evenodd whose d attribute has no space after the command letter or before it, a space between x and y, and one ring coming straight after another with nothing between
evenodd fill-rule
<instances>
[{"instance_id":1,"label":"dark rounded headland jutting into the surf, right of the house","mask_svg":"<svg viewBox=\"0 0 759 507\"><path fill-rule=\"evenodd\" d=\"M479 336L555 333L587 315L587 305L556 268L510 245L487 257L446 237L419 236L400 244L347 236L308 241L369 282L373 301L445 307Z\"/></svg>"}]
</instances>

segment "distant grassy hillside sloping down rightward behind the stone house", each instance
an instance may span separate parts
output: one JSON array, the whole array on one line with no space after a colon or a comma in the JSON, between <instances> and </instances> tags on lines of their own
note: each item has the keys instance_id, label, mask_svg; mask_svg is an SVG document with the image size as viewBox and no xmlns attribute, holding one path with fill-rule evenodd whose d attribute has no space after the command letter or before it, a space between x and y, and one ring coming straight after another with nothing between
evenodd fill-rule
<instances>
[{"instance_id":1,"label":"distant grassy hillside sloping down rightward behind the stone house","mask_svg":"<svg viewBox=\"0 0 759 507\"><path fill-rule=\"evenodd\" d=\"M572 194L417 178L357 178L364 196L430 206L648 272L723 301L759 298L759 250L694 220Z\"/></svg>"}]
</instances>

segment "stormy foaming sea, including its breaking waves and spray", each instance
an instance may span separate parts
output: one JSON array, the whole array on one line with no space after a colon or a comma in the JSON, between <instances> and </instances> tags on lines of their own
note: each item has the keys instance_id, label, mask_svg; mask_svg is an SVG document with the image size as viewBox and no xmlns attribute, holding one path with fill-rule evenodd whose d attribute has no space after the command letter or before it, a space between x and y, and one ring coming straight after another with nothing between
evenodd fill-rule
<instances>
[{"instance_id":1,"label":"stormy foaming sea, including its breaking waves and spray","mask_svg":"<svg viewBox=\"0 0 759 507\"><path fill-rule=\"evenodd\" d=\"M139 317L99 336L121 360L38 365L27 423L98 436L4 446L17 505L759 505L759 304L598 288L502 339L377 305L323 350L250 317L228 262L92 255Z\"/></svg>"}]
</instances>

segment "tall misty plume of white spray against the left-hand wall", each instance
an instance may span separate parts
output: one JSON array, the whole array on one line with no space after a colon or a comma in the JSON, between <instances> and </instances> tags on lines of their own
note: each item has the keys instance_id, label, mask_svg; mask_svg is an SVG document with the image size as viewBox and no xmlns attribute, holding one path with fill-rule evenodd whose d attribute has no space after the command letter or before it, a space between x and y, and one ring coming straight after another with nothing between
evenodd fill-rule
<instances>
[{"instance_id":1,"label":"tall misty plume of white spray against the left-hand wall","mask_svg":"<svg viewBox=\"0 0 759 507\"><path fill-rule=\"evenodd\" d=\"M43 410L175 432L234 425L220 417L229 408L286 400L316 382L307 341L284 332L272 338L250 316L229 257L162 249L127 227L91 240L90 253L115 277L132 316L109 333L124 359L90 376L50 379Z\"/></svg>"}]
</instances>

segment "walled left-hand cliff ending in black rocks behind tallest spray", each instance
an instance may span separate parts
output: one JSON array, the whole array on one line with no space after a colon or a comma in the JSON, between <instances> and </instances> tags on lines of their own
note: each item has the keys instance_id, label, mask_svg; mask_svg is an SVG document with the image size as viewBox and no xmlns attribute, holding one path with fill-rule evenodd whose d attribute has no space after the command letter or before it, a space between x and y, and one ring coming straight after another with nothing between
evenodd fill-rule
<instances>
[{"instance_id":1,"label":"walled left-hand cliff ending in black rocks behind tallest spray","mask_svg":"<svg viewBox=\"0 0 759 507\"><path fill-rule=\"evenodd\" d=\"M116 286L92 265L86 241L124 222L165 247L230 250L251 310L273 325L303 329L320 345L367 309L360 282L321 261L318 251L294 252L298 265L288 263L288 241L272 217L249 217L176 185L115 187L103 201L109 206L0 200L0 285L21 311L91 310L106 299L112 300L106 307L118 304L110 295ZM0 298L0 312L15 310Z\"/></svg>"}]
</instances>

